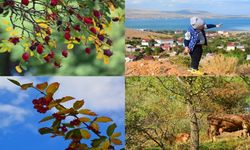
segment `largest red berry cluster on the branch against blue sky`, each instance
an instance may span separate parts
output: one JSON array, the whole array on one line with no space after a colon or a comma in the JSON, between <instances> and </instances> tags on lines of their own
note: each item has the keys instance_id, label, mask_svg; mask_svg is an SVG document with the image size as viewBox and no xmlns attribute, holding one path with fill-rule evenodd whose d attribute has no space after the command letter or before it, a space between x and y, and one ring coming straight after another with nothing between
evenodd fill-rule
<instances>
[{"instance_id":1,"label":"largest red berry cluster on the branch against blue sky","mask_svg":"<svg viewBox=\"0 0 250 150\"><path fill-rule=\"evenodd\" d=\"M32 103L34 104L34 108L37 110L37 112L46 113L49 110L48 105L51 101L51 99L41 97L39 99L34 99Z\"/></svg>"}]
</instances>

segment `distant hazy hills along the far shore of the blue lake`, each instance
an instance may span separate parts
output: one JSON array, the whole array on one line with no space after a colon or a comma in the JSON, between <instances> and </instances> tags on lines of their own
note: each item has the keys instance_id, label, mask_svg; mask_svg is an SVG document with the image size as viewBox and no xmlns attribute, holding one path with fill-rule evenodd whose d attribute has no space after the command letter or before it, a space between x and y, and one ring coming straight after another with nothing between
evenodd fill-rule
<instances>
[{"instance_id":1,"label":"distant hazy hills along the far shore of the blue lake","mask_svg":"<svg viewBox=\"0 0 250 150\"><path fill-rule=\"evenodd\" d=\"M157 10L141 10L141 9L127 9L126 18L190 18L198 16L203 18L250 18L250 15L219 15L210 13L208 11L200 10L178 10L178 11L157 11Z\"/></svg>"}]
</instances>

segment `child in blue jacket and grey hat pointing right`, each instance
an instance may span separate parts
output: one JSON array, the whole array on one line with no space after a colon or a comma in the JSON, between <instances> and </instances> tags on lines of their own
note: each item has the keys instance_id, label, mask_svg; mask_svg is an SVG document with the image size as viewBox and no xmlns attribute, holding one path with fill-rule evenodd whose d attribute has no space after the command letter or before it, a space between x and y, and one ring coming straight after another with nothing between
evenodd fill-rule
<instances>
[{"instance_id":1,"label":"child in blue jacket and grey hat pointing right","mask_svg":"<svg viewBox=\"0 0 250 150\"><path fill-rule=\"evenodd\" d=\"M222 24L206 24L205 21L199 17L190 18L190 26L185 33L184 38L184 53L190 54L191 65L189 71L193 74L202 75L199 71L199 63L202 56L202 45L207 45L207 37L205 29L219 28Z\"/></svg>"}]
</instances>

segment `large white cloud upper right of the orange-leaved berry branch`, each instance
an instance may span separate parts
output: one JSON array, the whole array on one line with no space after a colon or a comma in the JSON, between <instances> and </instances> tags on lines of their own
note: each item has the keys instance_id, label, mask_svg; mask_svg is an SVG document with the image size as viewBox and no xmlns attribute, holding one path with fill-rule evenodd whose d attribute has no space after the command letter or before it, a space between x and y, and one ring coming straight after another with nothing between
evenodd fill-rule
<instances>
[{"instance_id":1,"label":"large white cloud upper right of the orange-leaved berry branch","mask_svg":"<svg viewBox=\"0 0 250 150\"><path fill-rule=\"evenodd\" d=\"M56 98L73 96L84 99L93 111L120 111L125 108L123 77L53 77L49 82L61 84ZM72 103L67 104L68 107Z\"/></svg>"}]
</instances>

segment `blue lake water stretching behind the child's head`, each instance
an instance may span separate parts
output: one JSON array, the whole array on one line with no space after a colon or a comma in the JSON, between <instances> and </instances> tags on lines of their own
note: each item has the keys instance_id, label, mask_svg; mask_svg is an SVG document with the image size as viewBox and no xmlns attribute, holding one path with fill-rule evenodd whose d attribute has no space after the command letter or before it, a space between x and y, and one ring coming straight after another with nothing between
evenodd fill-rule
<instances>
[{"instance_id":1,"label":"blue lake water stretching behind the child's head","mask_svg":"<svg viewBox=\"0 0 250 150\"><path fill-rule=\"evenodd\" d=\"M224 31L250 31L250 18L219 18L205 19L207 24L222 23L222 28L211 30ZM189 18L180 19L127 19L125 26L131 29L148 30L186 30L189 26Z\"/></svg>"}]
</instances>

